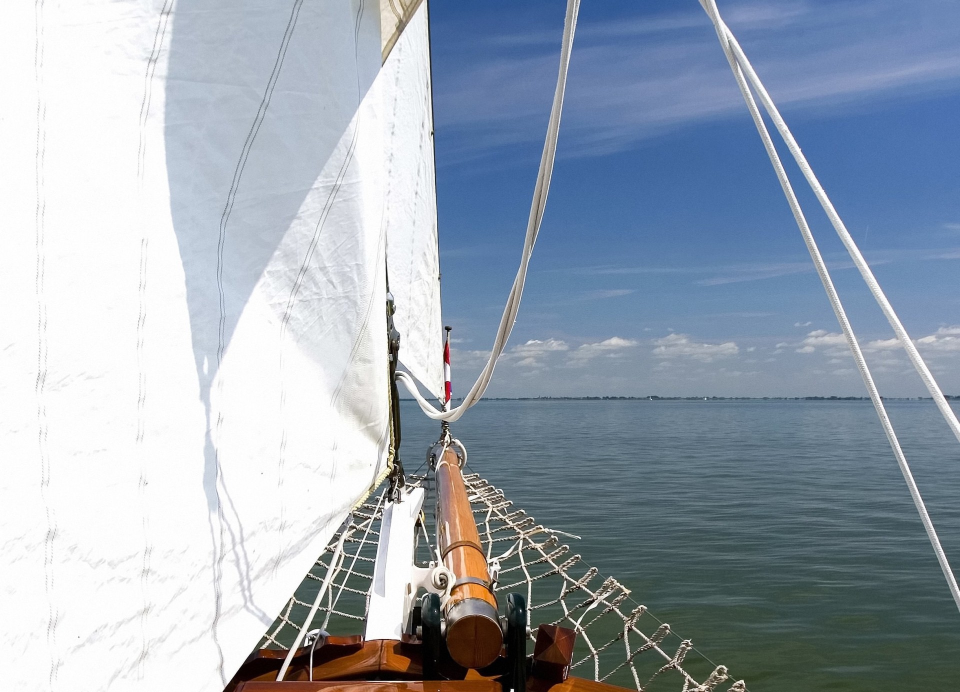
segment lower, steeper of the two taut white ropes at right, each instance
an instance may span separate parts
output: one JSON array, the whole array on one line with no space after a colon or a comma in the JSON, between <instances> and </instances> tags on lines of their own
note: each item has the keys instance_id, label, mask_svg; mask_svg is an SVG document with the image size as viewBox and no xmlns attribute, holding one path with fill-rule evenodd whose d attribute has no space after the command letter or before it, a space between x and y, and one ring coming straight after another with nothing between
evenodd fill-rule
<instances>
[{"instance_id":1,"label":"lower, steeper of the two taut white ropes at right","mask_svg":"<svg viewBox=\"0 0 960 692\"><path fill-rule=\"evenodd\" d=\"M747 84L747 81L744 77L743 69L741 69L744 67L744 63L741 63L739 60L739 56L742 56L743 53L742 51L738 52L734 48L735 40L732 37L730 29L720 18L720 12L717 10L716 0L700 0L700 4L704 7L704 10L707 11L710 21L713 22L717 36L720 39L720 45L723 47L724 54L727 56L727 60L730 62L733 77L736 80L736 84L739 86L740 92L743 94L744 101L747 103L747 108L750 110L750 114L754 119L756 130L759 132L760 139L763 141L763 147L766 149L767 155L770 156L770 162L773 164L774 171L777 173L777 178L780 180L780 186L783 188L783 194L786 196L787 203L790 204L790 210L793 212L794 219L797 221L797 226L800 227L800 232L804 236L804 243L806 243L806 248L810 252L810 257L813 259L813 264L817 269L817 274L820 274L820 280L823 282L824 289L827 291L827 297L829 298L830 306L833 308L833 312L837 317L837 322L840 322L840 327L843 329L844 336L847 338L847 344L850 346L857 370L860 370L860 374L863 377L863 382L867 387L867 392L870 394L870 398L874 402L876 415L878 418L880 418L880 424L883 427L883 432L886 434L887 440L890 442L890 447L893 449L894 456L897 458L897 464L900 465L900 472L903 474L903 479L906 481L907 488L910 489L910 496L913 498L913 503L917 507L917 512L920 514L921 521L924 523L926 535L930 539L930 544L933 546L933 552L936 554L937 561L940 562L940 568L943 570L944 577L947 579L947 585L950 589L950 594L953 596L953 600L956 603L957 608L960 609L960 588L957 587L957 582L953 576L953 571L950 569L947 556L940 544L940 538L937 537L937 532L933 528L933 522L930 521L930 516L926 512L924 498L921 496L920 489L917 488L917 484L913 479L913 474L910 471L910 465L907 464L906 457L903 455L903 450L900 448L900 441L897 440L897 435L894 432L893 424L890 422L890 418L887 416L886 408L883 406L883 401L880 399L880 394L876 390L876 384L874 383L873 375L871 375L870 370L867 367L867 362L863 356L863 351L860 350L860 345L857 343L856 336L853 334L851 323L847 319L847 313L845 312L843 304L840 301L840 297L837 295L836 289L833 286L833 281L830 279L830 275L827 270L827 263L824 262L824 258L821 255L820 250L817 248L813 234L810 232L810 228L806 223L804 212L801 209L800 203L797 200L797 196L793 191L790 180L787 178L786 171L784 170L783 164L780 161L780 155L777 154L777 149L774 147L773 139L770 136L770 132L767 131L766 124L763 122L763 117L760 114L759 108L756 107L756 101L754 100L754 96L750 91L750 86ZM746 60L746 58L744 57L743 60ZM753 72L752 69L751 72ZM754 84L755 88L756 84L759 84L759 79L756 78L756 73L753 73L751 84ZM766 94L766 91L761 91L761 88L762 85L760 88L757 88L757 92L761 94L762 99L763 95ZM769 100L769 98L769 96L766 96L767 100ZM770 107L768 107L768 110L769 109ZM782 122L782 119L780 119L780 122ZM785 124L783 125L783 128L786 128ZM792 137L791 141L793 141ZM796 141L793 141L793 149L795 149L797 154L799 154L800 148L797 147ZM803 155L800 156L803 157ZM798 160L798 163L799 162L800 161ZM805 163L806 161L804 159L804 164ZM807 170L809 170L809 166L807 166ZM810 176L813 176L812 171L810 172ZM810 178L807 178L807 180L809 179ZM810 184L811 186L813 185L812 182ZM819 183L817 184L819 186ZM824 193L824 199L826 199L826 193ZM829 201L827 203L829 203ZM830 209L832 208L833 207L830 206ZM834 211L833 214L835 215L836 212ZM839 221L839 217L837 217L837 219ZM834 227L836 227L836 225L834 225ZM840 227L843 227L842 222L840 223ZM837 228L837 230L839 232L839 228ZM844 228L844 233L846 232L846 228ZM843 235L841 235L841 237L843 237ZM847 237L850 237L849 233L847 233ZM848 246L848 248L852 246L852 248L855 250L856 246L853 244L852 238L850 239L850 244L851 245ZM859 254L859 251L857 251L857 256L859 256L860 260L863 261L863 257ZM863 264L864 267L866 267L866 262L863 262ZM861 272L862 271L863 270L861 270ZM866 272L868 274L870 273L869 267L866 268ZM870 277L873 279L874 284L876 284L876 279L874 279L873 274L870 274ZM866 276L864 276L864 278L866 278ZM871 288L871 291L874 292L873 288ZM880 297L883 296L883 293L880 291L878 285L876 286L876 292L874 292L875 297L877 293ZM883 299L884 301L886 300L886 298ZM879 298L877 298L877 301L879 301ZM886 304L889 307L889 303ZM892 308L890 308L890 315L893 315ZM893 319L896 320L896 315L893 315ZM899 321L897 323L900 324ZM900 330L902 330L902 326L900 326ZM913 346L913 343L910 341L909 337L906 336L905 331L903 331L903 335L906 343L913 347L914 352L916 352L916 347ZM917 358L920 358L919 353L917 354ZM921 359L920 362L923 363L923 360ZM933 387L936 388L936 383L933 384ZM936 391L939 394L940 390L937 389ZM943 394L940 395L941 398L943 398ZM950 416L952 417L952 411L950 411ZM955 422L956 418L953 418L953 420Z\"/></svg>"}]
</instances>

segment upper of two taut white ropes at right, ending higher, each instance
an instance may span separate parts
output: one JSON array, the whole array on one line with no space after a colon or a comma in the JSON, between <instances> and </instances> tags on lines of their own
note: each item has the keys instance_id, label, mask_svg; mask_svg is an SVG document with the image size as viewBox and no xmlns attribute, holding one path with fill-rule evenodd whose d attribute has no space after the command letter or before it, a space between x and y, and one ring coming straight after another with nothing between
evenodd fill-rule
<instances>
[{"instance_id":1,"label":"upper of two taut white ropes at right, ending higher","mask_svg":"<svg viewBox=\"0 0 960 692\"><path fill-rule=\"evenodd\" d=\"M703 4L703 2L701 2L701 4ZM710 4L713 5L714 8L716 7L715 0L711 0ZM713 17L711 16L710 18L712 19ZM907 334L902 322L900 322L900 318L897 317L897 313L894 312L893 306L883 293L883 289L880 288L880 284L876 281L876 276L874 276L873 271L870 269L870 265L867 264L867 260L863 258L863 254L860 252L860 249L856 247L856 243L853 241L850 231L847 230L847 227L840 218L840 215L837 213L837 210L833 207L833 203L830 202L830 199L827 196L827 191L824 190L823 185L820 184L820 180L818 180L814 175L813 169L810 168L810 164L807 162L806 156L804 156L804 153L800 149L800 145L797 144L797 140L794 139L793 133L786 126L786 122L783 120L782 116L780 116L780 110L777 108L777 105L774 104L773 99L770 98L770 94L767 93L767 90L760 82L759 77L756 76L756 72L754 71L753 65L750 63L750 60L747 60L747 56L744 54L743 49L740 48L740 44L732 35L730 28L724 24L723 19L721 19L719 16L719 13L716 15L716 20L719 22L719 24L714 22L714 26L718 27L717 31L721 34L721 41L723 41L724 37L726 37L728 45L732 50L733 57L743 70L747 79L750 80L750 84L753 85L756 95L760 99L760 103L763 104L763 107L766 109L767 113L769 113L770 119L773 121L774 126L777 128L777 131L780 132L780 136L783 138L783 142L786 144L790 154L793 155L794 160L797 161L797 165L804 174L804 178L809 183L810 189L813 190L813 194L816 195L820 205L827 213L830 224L836 230L837 235L840 236L840 240L844 244L844 247L847 248L847 251L850 253L853 264L860 271L860 275L863 276L863 280L866 282L867 287L870 289L870 293L874 296L874 299L876 299L876 303L880 306L880 310L883 311L883 315L887 318L887 322L890 322L890 326L893 327L894 333L897 334L897 340L900 342L900 346L903 346L907 357L910 359L913 367L917 370L920 378L924 381L926 391L929 392L930 396L933 397L933 400L937 404L937 408L940 409L940 413L947 421L947 424L957 441L960 441L960 421L957 420L956 414L953 413L953 409L950 408L947 399L940 390L940 386L937 385L937 381L934 379L933 373L931 373L926 367L923 356L920 355L920 351L917 350L917 346L913 343L913 340L910 339L910 335Z\"/></svg>"}]
</instances>

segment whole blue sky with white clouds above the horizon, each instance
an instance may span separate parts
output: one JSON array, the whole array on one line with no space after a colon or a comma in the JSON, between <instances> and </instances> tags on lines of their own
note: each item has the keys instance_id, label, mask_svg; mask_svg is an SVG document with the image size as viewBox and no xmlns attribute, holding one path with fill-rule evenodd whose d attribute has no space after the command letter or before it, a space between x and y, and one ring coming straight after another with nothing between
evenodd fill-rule
<instances>
[{"instance_id":1,"label":"whole blue sky with white clouds above the horizon","mask_svg":"<svg viewBox=\"0 0 960 692\"><path fill-rule=\"evenodd\" d=\"M516 274L562 0L430 4L454 394ZM724 1L946 394L960 394L960 3ZM789 159L881 394L926 391ZM546 214L489 396L865 395L696 0L583 0Z\"/></svg>"}]
</instances>

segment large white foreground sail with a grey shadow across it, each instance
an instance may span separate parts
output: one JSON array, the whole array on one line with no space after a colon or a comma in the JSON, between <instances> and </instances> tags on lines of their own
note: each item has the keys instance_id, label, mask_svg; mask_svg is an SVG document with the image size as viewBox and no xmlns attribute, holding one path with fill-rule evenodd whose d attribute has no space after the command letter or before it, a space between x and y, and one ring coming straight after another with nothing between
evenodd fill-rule
<instances>
[{"instance_id":1,"label":"large white foreground sail with a grey shadow across it","mask_svg":"<svg viewBox=\"0 0 960 692\"><path fill-rule=\"evenodd\" d=\"M5 6L11 689L221 689L384 471L380 10Z\"/></svg>"}]
</instances>

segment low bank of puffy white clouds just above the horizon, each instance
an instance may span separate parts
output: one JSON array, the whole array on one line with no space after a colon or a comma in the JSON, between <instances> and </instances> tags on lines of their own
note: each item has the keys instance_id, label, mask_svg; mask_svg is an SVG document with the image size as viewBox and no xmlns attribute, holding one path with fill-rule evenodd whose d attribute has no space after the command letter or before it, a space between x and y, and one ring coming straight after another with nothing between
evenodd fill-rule
<instances>
[{"instance_id":1,"label":"low bank of puffy white clouds just above the horizon","mask_svg":"<svg viewBox=\"0 0 960 692\"><path fill-rule=\"evenodd\" d=\"M797 322L798 327L808 326ZM813 329L803 336L716 341L671 332L647 339L529 339L497 363L490 396L863 396L843 334ZM945 394L960 394L960 324L914 339ZM861 342L881 393L906 388L926 395L896 339ZM454 381L468 381L490 357L487 350L451 349ZM952 389L951 389L952 387ZM454 391L456 393L455 384ZM956 391L954 391L956 390Z\"/></svg>"}]
</instances>

